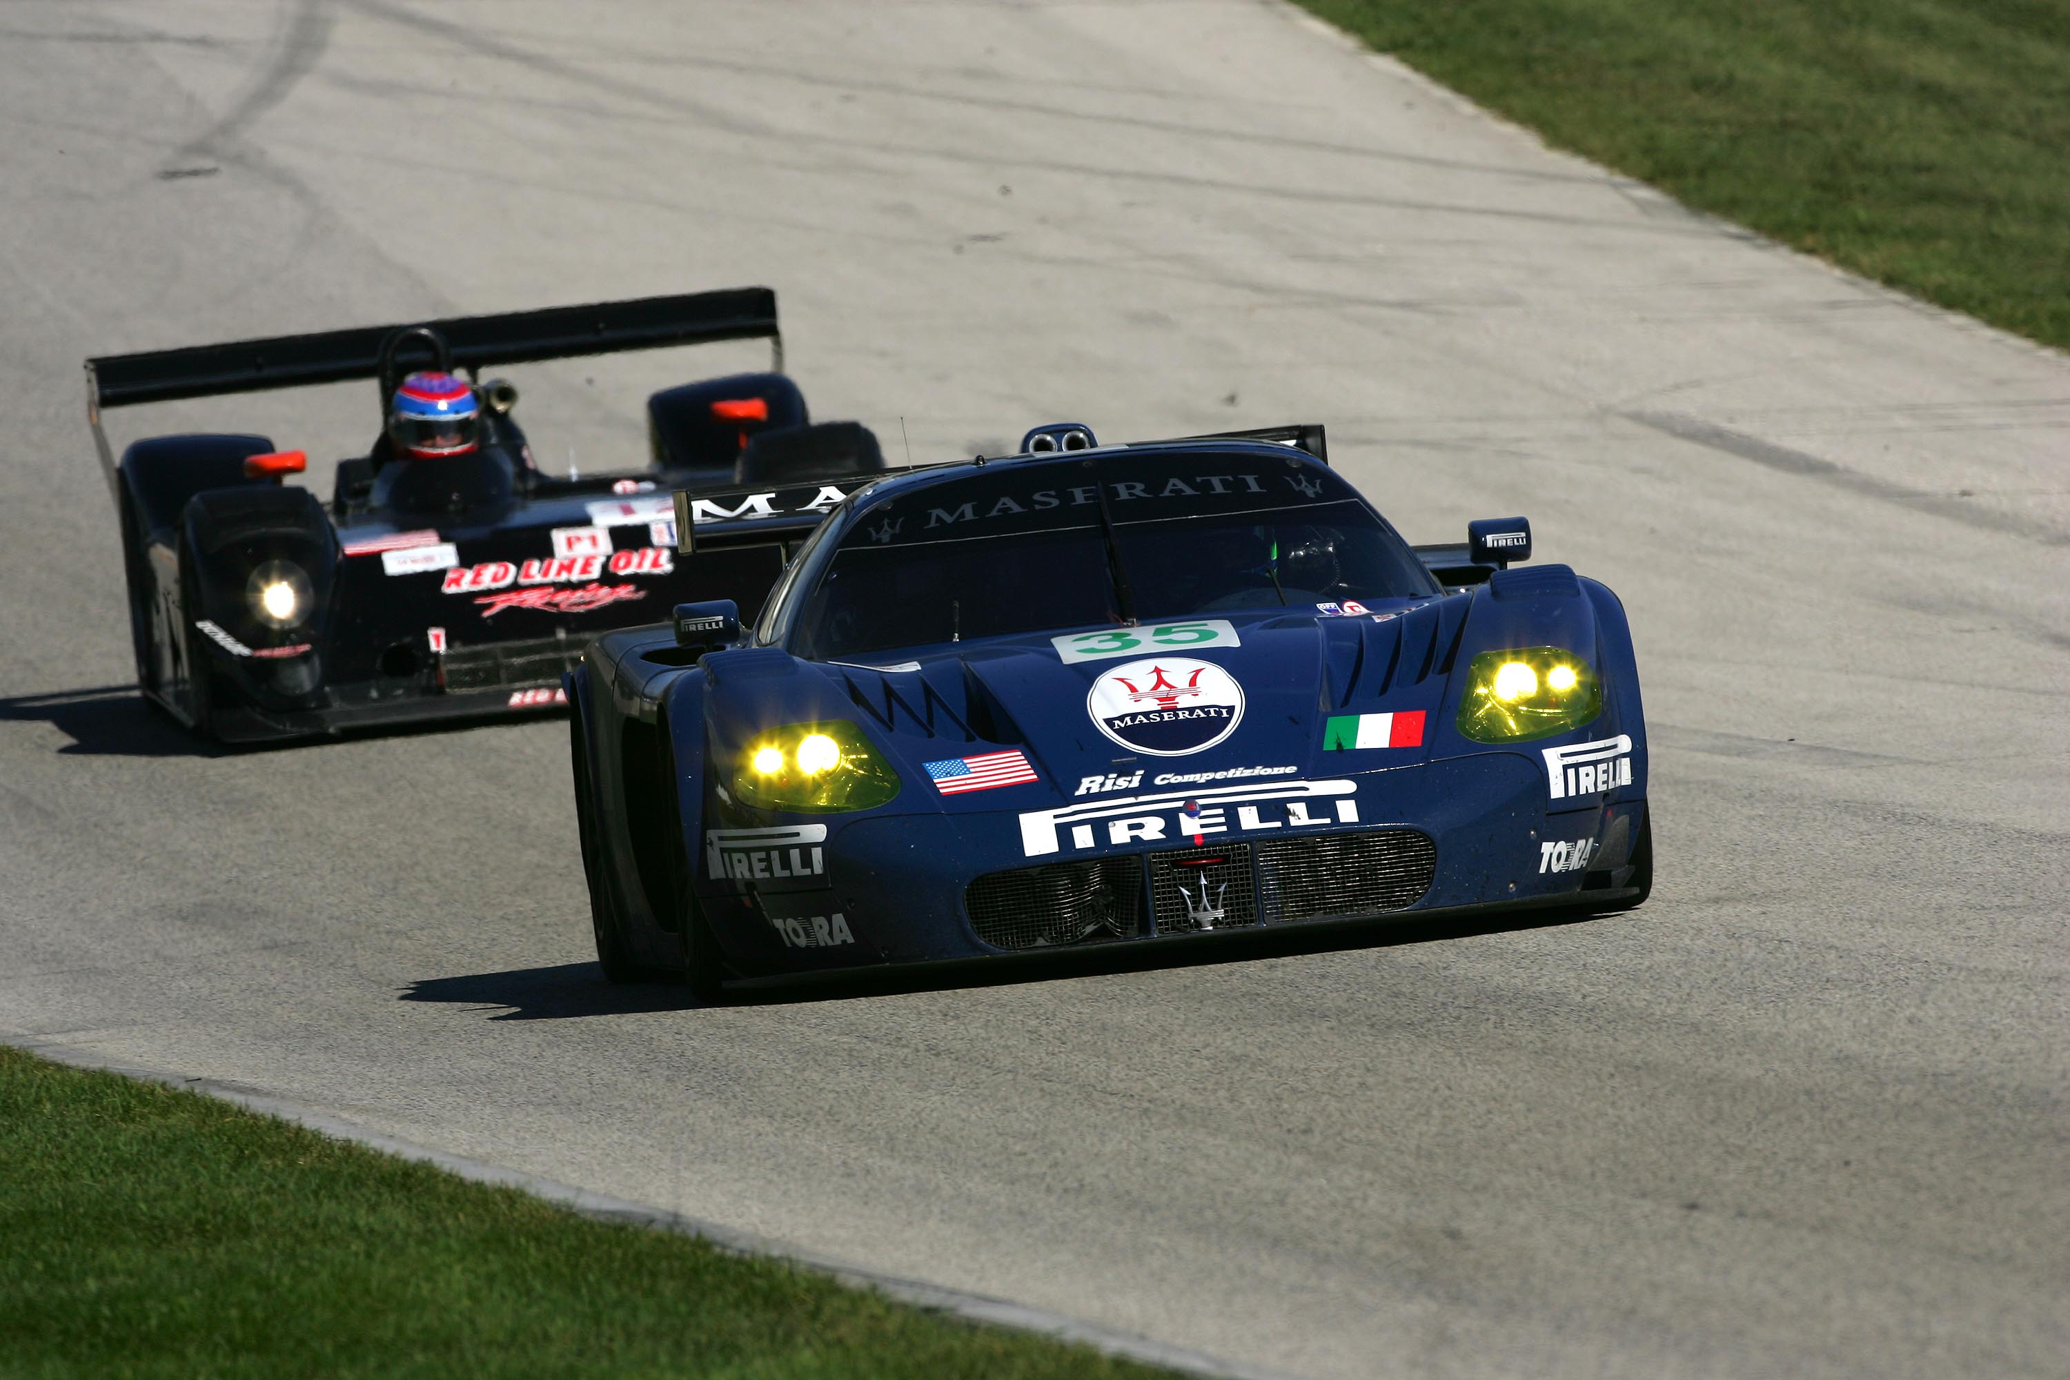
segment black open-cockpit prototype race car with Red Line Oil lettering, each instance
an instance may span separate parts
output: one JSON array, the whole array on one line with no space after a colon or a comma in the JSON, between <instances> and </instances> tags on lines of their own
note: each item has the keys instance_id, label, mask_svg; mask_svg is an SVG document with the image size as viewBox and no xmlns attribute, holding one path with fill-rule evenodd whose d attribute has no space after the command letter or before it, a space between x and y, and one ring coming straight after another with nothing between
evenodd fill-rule
<instances>
[{"instance_id":1,"label":"black open-cockpit prototype race car with Red Line Oil lettering","mask_svg":"<svg viewBox=\"0 0 2070 1380\"><path fill-rule=\"evenodd\" d=\"M724 339L770 339L772 372L654 393L650 463L633 472L542 474L518 389L480 379L486 366ZM410 368L466 370L478 449L400 459L383 432L337 466L329 503L282 482L306 455L267 437L151 437L116 459L101 428L108 408L352 379L377 381L385 408ZM745 488L718 511L758 513L811 474L882 468L865 428L809 424L780 368L768 288L87 360L137 683L221 741L565 703L561 672L596 633L689 598L758 608L782 569L780 544L679 554L671 490Z\"/></svg>"}]
</instances>

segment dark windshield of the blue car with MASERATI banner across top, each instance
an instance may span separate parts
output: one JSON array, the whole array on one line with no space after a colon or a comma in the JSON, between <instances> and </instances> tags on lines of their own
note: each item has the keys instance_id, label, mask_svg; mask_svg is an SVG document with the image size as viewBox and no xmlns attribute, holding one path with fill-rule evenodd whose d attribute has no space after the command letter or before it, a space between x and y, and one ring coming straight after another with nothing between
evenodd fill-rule
<instances>
[{"instance_id":1,"label":"dark windshield of the blue car with MASERATI banner across top","mask_svg":"<svg viewBox=\"0 0 2070 1380\"><path fill-rule=\"evenodd\" d=\"M1416 552L1317 466L1199 453L1085 463L1002 466L871 505L805 602L797 654L845 660L1118 625L1124 608L1136 619L1312 612L1437 594Z\"/></svg>"}]
</instances>

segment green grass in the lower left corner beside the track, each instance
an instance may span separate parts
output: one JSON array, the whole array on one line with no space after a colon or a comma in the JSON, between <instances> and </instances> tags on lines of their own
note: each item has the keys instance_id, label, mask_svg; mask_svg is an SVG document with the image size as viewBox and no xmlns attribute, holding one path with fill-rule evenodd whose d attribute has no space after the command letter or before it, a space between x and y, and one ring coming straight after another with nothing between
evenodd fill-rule
<instances>
[{"instance_id":1,"label":"green grass in the lower left corner beside the track","mask_svg":"<svg viewBox=\"0 0 2070 1380\"><path fill-rule=\"evenodd\" d=\"M0 1047L0 1376L1153 1376Z\"/></svg>"}]
</instances>

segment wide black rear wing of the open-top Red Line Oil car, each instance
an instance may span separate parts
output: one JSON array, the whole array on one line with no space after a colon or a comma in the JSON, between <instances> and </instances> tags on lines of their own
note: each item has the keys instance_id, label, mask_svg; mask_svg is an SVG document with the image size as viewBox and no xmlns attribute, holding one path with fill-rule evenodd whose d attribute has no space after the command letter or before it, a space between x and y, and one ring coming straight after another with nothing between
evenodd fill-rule
<instances>
[{"instance_id":1,"label":"wide black rear wing of the open-top Red Line Oil car","mask_svg":"<svg viewBox=\"0 0 2070 1380\"><path fill-rule=\"evenodd\" d=\"M629 302L546 306L495 317L451 317L404 325L352 327L313 335L273 335L221 346L188 346L87 360L87 422L114 484L114 453L101 430L101 408L130 408L182 397L300 389L350 379L379 379L385 352L400 335L435 331L451 366L470 372L491 364L565 360L621 350L660 350L722 339L766 339L782 370L772 288L731 288ZM400 350L416 348L402 341Z\"/></svg>"}]
</instances>

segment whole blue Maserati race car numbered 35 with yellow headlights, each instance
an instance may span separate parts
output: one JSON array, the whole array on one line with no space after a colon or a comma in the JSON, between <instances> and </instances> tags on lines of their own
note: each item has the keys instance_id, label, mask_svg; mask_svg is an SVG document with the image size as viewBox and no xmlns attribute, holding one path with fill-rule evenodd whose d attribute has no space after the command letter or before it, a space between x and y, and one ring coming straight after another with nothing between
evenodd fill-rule
<instances>
[{"instance_id":1,"label":"whole blue Maserati race car numbered 35 with yellow headlights","mask_svg":"<svg viewBox=\"0 0 2070 1380\"><path fill-rule=\"evenodd\" d=\"M685 550L791 559L751 627L683 604L567 677L611 981L716 995L1652 888L1617 596L1515 569L1521 517L1412 548L1319 426L1049 426L809 503L677 505Z\"/></svg>"}]
</instances>

